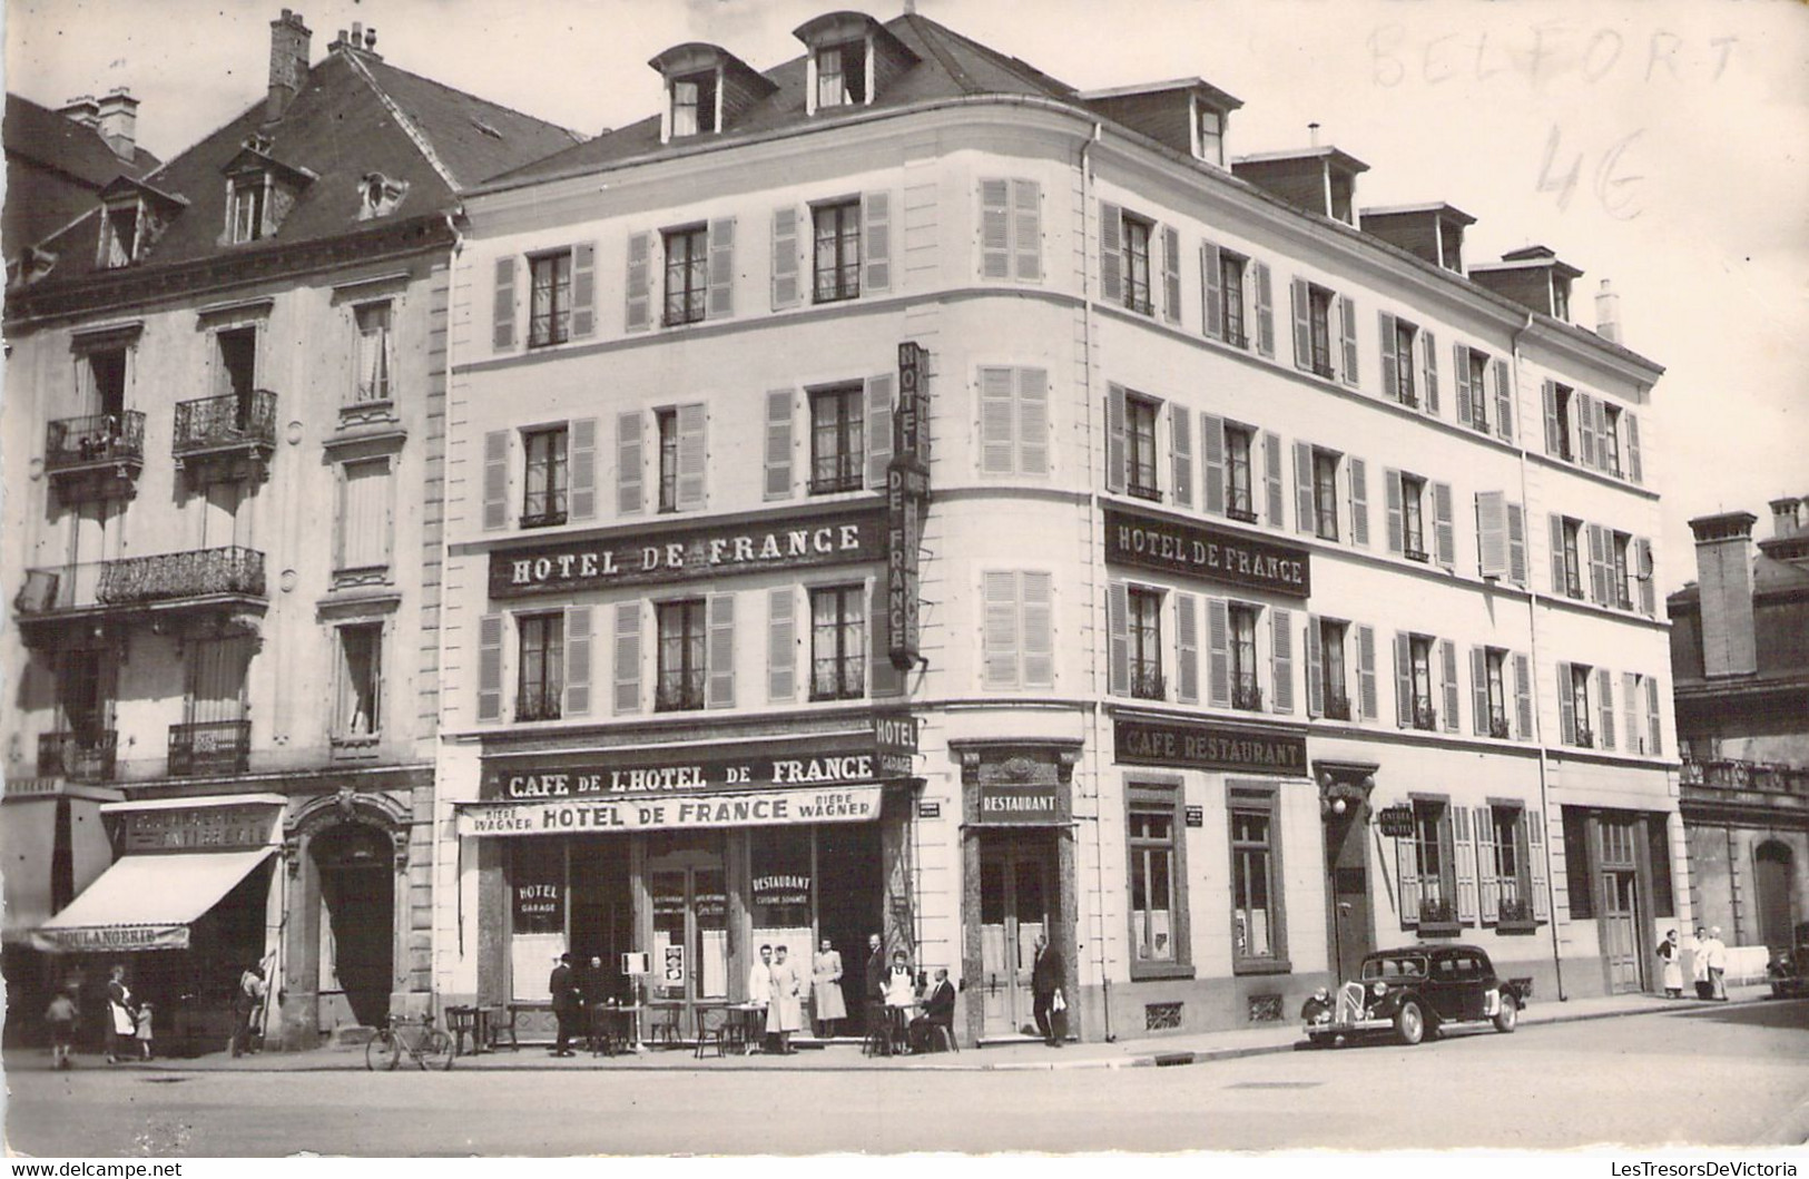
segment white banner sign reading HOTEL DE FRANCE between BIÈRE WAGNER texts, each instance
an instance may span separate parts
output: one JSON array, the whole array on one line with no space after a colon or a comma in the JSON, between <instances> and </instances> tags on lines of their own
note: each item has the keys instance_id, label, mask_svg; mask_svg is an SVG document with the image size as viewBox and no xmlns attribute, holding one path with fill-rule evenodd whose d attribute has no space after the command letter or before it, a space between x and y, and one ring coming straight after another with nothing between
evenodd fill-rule
<instances>
[{"instance_id":1,"label":"white banner sign reading HOTEL DE FRANCE between BI\u00c8RE WAGNER texts","mask_svg":"<svg viewBox=\"0 0 1809 1179\"><path fill-rule=\"evenodd\" d=\"M695 797L590 797L543 803L472 803L459 835L570 835L575 832L709 830L791 823L867 823L879 817L879 787L749 790Z\"/></svg>"}]
</instances>

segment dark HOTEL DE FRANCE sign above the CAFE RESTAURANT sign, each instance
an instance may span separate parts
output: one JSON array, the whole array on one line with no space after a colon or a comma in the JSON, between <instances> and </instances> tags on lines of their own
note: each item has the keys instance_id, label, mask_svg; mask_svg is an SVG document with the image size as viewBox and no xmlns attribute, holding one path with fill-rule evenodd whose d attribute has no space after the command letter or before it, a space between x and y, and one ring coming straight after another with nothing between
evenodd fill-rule
<instances>
[{"instance_id":1,"label":"dark HOTEL DE FRANCE sign above the CAFE RESTAURANT sign","mask_svg":"<svg viewBox=\"0 0 1809 1179\"><path fill-rule=\"evenodd\" d=\"M1181 577L1266 590L1304 599L1312 593L1310 553L1293 544L1246 537L1165 515L1105 508L1105 561Z\"/></svg>"}]
</instances>

